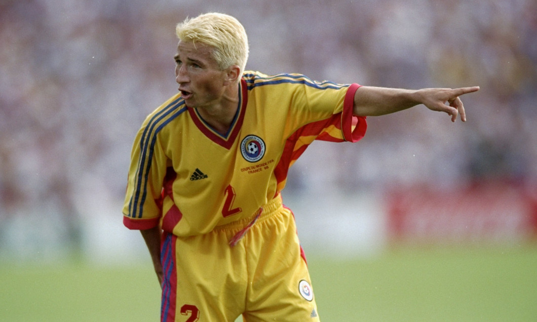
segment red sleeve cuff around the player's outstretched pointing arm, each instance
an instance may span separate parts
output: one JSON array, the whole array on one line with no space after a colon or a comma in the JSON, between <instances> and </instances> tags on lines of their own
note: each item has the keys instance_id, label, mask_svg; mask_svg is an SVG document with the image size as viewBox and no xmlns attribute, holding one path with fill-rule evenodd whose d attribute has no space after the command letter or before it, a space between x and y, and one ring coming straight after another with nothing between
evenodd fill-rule
<instances>
[{"instance_id":1,"label":"red sleeve cuff around the player's outstretched pointing arm","mask_svg":"<svg viewBox=\"0 0 537 322\"><path fill-rule=\"evenodd\" d=\"M367 122L365 116L353 115L354 94L361 86L351 84L343 101L342 131L345 141L357 142L366 134Z\"/></svg>"}]
</instances>

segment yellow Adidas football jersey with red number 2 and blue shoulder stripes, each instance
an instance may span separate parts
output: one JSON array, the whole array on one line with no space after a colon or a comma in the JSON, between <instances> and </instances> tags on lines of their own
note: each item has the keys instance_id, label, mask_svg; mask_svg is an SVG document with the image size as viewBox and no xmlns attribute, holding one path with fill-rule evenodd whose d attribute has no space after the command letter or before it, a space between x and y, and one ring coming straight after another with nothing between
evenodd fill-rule
<instances>
[{"instance_id":1,"label":"yellow Adidas football jersey with red number 2 and blue shoulder stripes","mask_svg":"<svg viewBox=\"0 0 537 322\"><path fill-rule=\"evenodd\" d=\"M247 71L224 135L176 94L136 135L124 224L160 225L184 237L251 217L284 189L289 167L311 142L356 142L365 135L365 118L352 115L358 87Z\"/></svg>"}]
</instances>

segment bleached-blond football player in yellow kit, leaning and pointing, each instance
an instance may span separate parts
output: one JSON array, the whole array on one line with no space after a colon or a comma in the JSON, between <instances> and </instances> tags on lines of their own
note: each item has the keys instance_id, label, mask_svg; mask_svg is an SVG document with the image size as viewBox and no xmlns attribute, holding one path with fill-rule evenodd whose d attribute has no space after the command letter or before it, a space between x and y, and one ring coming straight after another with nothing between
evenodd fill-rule
<instances>
[{"instance_id":1,"label":"bleached-blond football player in yellow kit, leaning and pointing","mask_svg":"<svg viewBox=\"0 0 537 322\"><path fill-rule=\"evenodd\" d=\"M411 91L245 72L246 33L225 14L186 19L176 33L179 93L135 138L123 209L153 259L161 319L318 321L280 195L289 167L314 140L360 140L369 115L424 104L465 121L459 96L478 87Z\"/></svg>"}]
</instances>

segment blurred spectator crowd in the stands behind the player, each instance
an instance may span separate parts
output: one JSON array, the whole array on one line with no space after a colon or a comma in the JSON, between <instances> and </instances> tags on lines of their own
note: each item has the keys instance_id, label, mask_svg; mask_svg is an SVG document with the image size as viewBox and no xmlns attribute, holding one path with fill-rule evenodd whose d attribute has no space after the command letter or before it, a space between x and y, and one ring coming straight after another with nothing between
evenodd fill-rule
<instances>
[{"instance_id":1,"label":"blurred spectator crowd in the stands behind the player","mask_svg":"<svg viewBox=\"0 0 537 322\"><path fill-rule=\"evenodd\" d=\"M481 86L466 123L420 106L368 118L354 145L314 144L289 191L535 187L535 0L0 0L0 254L77 250L90 223L121 225L134 135L177 91L175 25L208 11L243 23L247 69Z\"/></svg>"}]
</instances>

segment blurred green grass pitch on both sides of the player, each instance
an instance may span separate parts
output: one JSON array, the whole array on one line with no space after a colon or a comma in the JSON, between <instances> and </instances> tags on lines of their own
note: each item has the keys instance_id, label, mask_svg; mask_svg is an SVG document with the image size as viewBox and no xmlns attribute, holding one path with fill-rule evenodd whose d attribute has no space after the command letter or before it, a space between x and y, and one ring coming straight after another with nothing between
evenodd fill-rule
<instances>
[{"instance_id":1,"label":"blurred green grass pitch on both sides of the player","mask_svg":"<svg viewBox=\"0 0 537 322\"><path fill-rule=\"evenodd\" d=\"M308 257L323 321L537 321L537 248ZM0 321L157 321L148 265L0 263Z\"/></svg>"}]
</instances>

